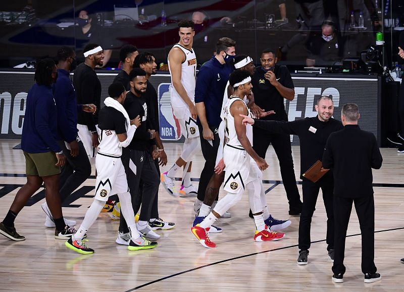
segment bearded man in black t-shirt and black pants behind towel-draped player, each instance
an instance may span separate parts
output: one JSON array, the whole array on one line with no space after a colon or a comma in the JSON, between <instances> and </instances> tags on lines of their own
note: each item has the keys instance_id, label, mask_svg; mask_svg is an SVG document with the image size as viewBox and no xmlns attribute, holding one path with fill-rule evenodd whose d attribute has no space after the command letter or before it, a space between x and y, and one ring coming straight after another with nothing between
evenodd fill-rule
<instances>
[{"instance_id":1,"label":"bearded man in black t-shirt and black pants behind towel-draped player","mask_svg":"<svg viewBox=\"0 0 404 292\"><path fill-rule=\"evenodd\" d=\"M141 124L136 129L133 139L128 149L122 152L122 163L128 180L129 191L132 197L132 207L136 214L140 206L141 211L139 221L136 223L137 230L151 239L159 239L160 235L154 232L149 226L151 206L153 205L156 192L159 189L160 177L156 169L154 157L157 157L158 151L154 145L153 152L150 152L150 140L155 138L148 116L147 103L142 94L146 91L147 78L146 72L140 68L134 68L129 74L130 91L126 95L123 104L129 118L133 119L140 116ZM140 180L143 182L142 193L139 193ZM136 206L137 205L137 206ZM119 234L116 242L120 245L129 245L130 230L126 224L124 216L120 218Z\"/></svg>"}]
</instances>

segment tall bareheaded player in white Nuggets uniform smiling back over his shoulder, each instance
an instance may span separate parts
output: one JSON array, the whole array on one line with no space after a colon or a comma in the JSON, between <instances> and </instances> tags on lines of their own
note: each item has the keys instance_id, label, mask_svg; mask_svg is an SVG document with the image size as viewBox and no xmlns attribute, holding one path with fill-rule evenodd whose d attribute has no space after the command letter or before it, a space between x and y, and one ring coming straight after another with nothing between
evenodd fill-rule
<instances>
[{"instance_id":1,"label":"tall bareheaded player in white Nuggets uniform smiling back over his shoulder","mask_svg":"<svg viewBox=\"0 0 404 292\"><path fill-rule=\"evenodd\" d=\"M161 182L173 196L196 196L196 188L191 184L190 171L192 157L200 150L199 130L196 125L195 75L196 55L192 48L193 22L181 20L178 23L180 41L168 54L168 66L171 73L171 106L185 137L182 153L175 164L161 174ZM175 172L184 167L181 189L174 184Z\"/></svg>"}]
</instances>

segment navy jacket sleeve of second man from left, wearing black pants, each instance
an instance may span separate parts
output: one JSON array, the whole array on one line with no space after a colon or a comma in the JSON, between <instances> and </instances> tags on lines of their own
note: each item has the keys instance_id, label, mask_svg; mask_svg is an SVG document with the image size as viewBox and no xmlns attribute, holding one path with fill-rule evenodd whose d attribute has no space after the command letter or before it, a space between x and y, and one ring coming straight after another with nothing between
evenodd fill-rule
<instances>
[{"instance_id":1,"label":"navy jacket sleeve of second man from left, wearing black pants","mask_svg":"<svg viewBox=\"0 0 404 292\"><path fill-rule=\"evenodd\" d=\"M70 87L66 86L69 85ZM58 111L58 129L62 133L63 138L66 142L70 143L77 137L77 129L72 129L69 124L69 118L67 117L66 111L69 99L69 89L71 84L66 84L63 79L60 79L55 86L55 100L56 108Z\"/></svg>"}]
</instances>

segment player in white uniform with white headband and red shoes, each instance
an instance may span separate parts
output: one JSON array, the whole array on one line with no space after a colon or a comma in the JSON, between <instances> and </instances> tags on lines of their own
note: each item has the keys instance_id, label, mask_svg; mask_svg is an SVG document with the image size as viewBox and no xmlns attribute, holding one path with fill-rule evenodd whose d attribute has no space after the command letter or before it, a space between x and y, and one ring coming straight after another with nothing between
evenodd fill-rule
<instances>
[{"instance_id":1,"label":"player in white uniform with white headband and red shoes","mask_svg":"<svg viewBox=\"0 0 404 292\"><path fill-rule=\"evenodd\" d=\"M257 228L254 239L256 241L278 240L285 235L271 231L264 222L260 181L262 180L261 171L267 169L268 164L252 149L252 127L241 122L241 114L250 115L242 100L244 95L251 92L250 74L244 70L236 70L230 74L229 81L234 92L227 102L225 118L226 145L223 151L223 162L226 171L224 189L227 194L200 224L191 227L191 232L206 248L216 247L209 238L210 226L241 199L245 188L248 189L250 208L254 213Z\"/></svg>"}]
</instances>

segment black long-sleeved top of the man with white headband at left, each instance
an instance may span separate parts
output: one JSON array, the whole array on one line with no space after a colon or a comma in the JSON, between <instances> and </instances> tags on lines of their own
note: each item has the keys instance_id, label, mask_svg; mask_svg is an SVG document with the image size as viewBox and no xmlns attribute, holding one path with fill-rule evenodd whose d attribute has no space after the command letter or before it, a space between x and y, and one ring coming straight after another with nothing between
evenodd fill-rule
<instances>
[{"instance_id":1,"label":"black long-sleeved top of the man with white headband at left","mask_svg":"<svg viewBox=\"0 0 404 292\"><path fill-rule=\"evenodd\" d=\"M76 90L78 105L94 104L97 109L100 108L101 83L94 70L84 63L77 66L73 75L73 86ZM95 125L98 124L98 111L95 112L95 115L83 111L78 112L77 123L86 125L90 131L95 131Z\"/></svg>"}]
</instances>

